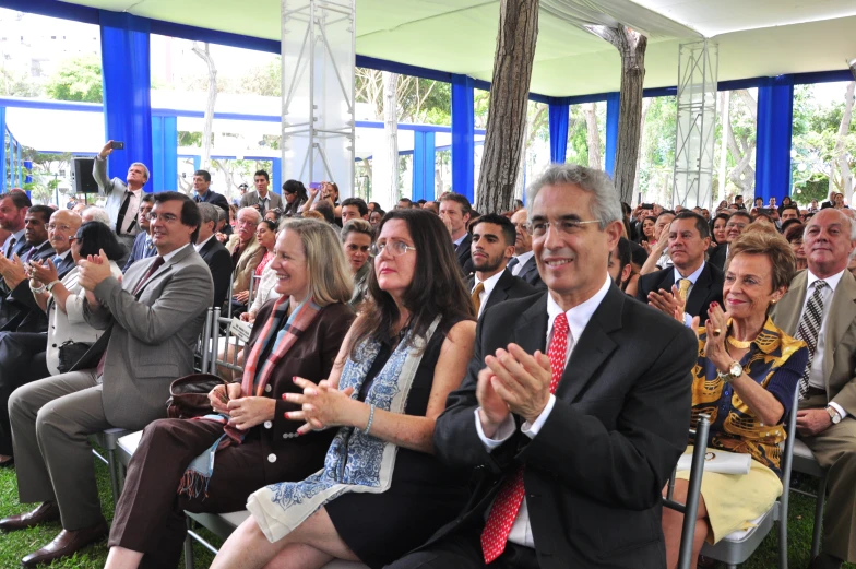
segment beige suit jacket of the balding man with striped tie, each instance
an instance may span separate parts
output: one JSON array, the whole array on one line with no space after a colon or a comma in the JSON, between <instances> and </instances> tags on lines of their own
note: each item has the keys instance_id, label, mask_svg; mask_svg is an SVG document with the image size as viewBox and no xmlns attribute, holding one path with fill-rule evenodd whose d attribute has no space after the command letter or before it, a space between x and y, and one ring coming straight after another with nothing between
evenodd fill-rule
<instances>
[{"instance_id":1,"label":"beige suit jacket of the balding man with striped tie","mask_svg":"<svg viewBox=\"0 0 856 569\"><path fill-rule=\"evenodd\" d=\"M775 325L792 336L797 335L807 285L808 271L800 271L771 312ZM830 301L829 316L821 327L827 398L856 415L856 278L849 271L844 271Z\"/></svg>"}]
</instances>

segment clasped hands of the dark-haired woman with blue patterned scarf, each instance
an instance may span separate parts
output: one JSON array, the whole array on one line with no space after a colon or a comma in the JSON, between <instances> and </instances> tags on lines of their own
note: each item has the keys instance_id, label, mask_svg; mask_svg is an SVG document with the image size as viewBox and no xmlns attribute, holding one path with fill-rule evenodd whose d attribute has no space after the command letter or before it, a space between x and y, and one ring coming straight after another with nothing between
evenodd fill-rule
<instances>
[{"instance_id":1,"label":"clasped hands of the dark-haired woman with blue patterned scarf","mask_svg":"<svg viewBox=\"0 0 856 569\"><path fill-rule=\"evenodd\" d=\"M305 420L306 424L297 429L298 435L306 435L310 430L322 430L328 427L349 425L353 417L354 403L350 399L354 388L340 391L325 379L316 386L308 379L294 378L302 393L283 393L283 399L288 403L301 405L301 411L285 414L289 420Z\"/></svg>"}]
</instances>

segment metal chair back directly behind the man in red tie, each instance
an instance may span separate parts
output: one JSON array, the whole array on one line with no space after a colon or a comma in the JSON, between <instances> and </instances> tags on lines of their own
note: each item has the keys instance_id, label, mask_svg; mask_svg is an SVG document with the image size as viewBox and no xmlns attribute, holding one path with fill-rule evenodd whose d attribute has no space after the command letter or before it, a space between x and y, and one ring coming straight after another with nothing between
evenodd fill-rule
<instances>
[{"instance_id":1,"label":"metal chair back directly behind the man in red tie","mask_svg":"<svg viewBox=\"0 0 856 569\"><path fill-rule=\"evenodd\" d=\"M708 453L708 432L711 428L711 417L706 414L699 415L696 429L690 429L690 437L696 438L692 448L692 463L687 488L687 503L673 499L675 490L675 471L668 482L668 489L663 505L683 514L683 527L680 532L680 549L678 553L678 569L689 569L692 565L692 540L696 535L696 518L699 512L701 496L701 478L704 475L704 455ZM701 443L700 443L701 442Z\"/></svg>"}]
</instances>

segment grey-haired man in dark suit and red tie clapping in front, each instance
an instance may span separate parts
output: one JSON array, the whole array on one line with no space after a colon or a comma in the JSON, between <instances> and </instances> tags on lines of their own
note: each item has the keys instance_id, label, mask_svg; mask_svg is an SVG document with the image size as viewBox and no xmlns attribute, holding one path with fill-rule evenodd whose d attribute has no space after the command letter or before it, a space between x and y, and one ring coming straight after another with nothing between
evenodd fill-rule
<instances>
[{"instance_id":1,"label":"grey-haired man in dark suit and red tie clapping in front","mask_svg":"<svg viewBox=\"0 0 856 569\"><path fill-rule=\"evenodd\" d=\"M554 165L528 192L548 291L484 315L435 427L437 454L482 479L395 569L666 565L661 490L687 447L698 341L611 284L621 208L604 173Z\"/></svg>"}]
</instances>

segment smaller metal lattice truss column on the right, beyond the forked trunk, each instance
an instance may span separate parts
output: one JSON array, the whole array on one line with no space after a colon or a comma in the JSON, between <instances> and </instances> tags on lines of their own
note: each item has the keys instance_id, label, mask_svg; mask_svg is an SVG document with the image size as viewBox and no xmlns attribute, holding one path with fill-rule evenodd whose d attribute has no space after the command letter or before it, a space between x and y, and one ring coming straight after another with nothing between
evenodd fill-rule
<instances>
[{"instance_id":1,"label":"smaller metal lattice truss column on the right, beyond the forked trunk","mask_svg":"<svg viewBox=\"0 0 856 569\"><path fill-rule=\"evenodd\" d=\"M718 59L718 46L706 39L679 48L675 205L712 205Z\"/></svg>"}]
</instances>

